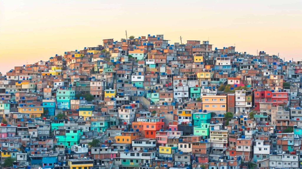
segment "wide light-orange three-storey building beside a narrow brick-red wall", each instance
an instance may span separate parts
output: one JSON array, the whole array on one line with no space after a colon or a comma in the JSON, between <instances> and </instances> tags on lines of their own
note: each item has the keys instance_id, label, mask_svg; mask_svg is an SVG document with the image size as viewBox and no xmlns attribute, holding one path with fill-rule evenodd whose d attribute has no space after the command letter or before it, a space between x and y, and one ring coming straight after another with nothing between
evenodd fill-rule
<instances>
[{"instance_id":1,"label":"wide light-orange three-storey building beside a narrow brick-red wall","mask_svg":"<svg viewBox=\"0 0 302 169\"><path fill-rule=\"evenodd\" d=\"M207 112L226 112L226 95L205 95L202 96L202 110Z\"/></svg>"}]
</instances>

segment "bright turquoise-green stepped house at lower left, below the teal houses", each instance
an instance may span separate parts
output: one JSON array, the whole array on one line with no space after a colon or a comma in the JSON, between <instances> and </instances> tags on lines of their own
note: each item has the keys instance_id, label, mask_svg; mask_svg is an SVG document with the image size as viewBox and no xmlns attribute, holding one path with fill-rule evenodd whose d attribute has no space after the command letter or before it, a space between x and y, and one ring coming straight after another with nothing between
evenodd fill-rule
<instances>
[{"instance_id":1,"label":"bright turquoise-green stepped house at lower left, below the teal houses","mask_svg":"<svg viewBox=\"0 0 302 169\"><path fill-rule=\"evenodd\" d=\"M57 144L64 145L65 148L71 148L80 143L80 137L83 135L82 129L55 130L54 134Z\"/></svg>"}]
</instances>

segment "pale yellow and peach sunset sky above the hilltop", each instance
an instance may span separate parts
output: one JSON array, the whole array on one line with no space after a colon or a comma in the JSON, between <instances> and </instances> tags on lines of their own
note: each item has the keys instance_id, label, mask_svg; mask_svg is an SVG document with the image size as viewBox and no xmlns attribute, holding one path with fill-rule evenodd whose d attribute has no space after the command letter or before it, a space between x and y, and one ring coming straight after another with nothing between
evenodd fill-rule
<instances>
[{"instance_id":1,"label":"pale yellow and peach sunset sky above the hilltop","mask_svg":"<svg viewBox=\"0 0 302 169\"><path fill-rule=\"evenodd\" d=\"M301 60L301 7L301 0L0 0L0 71L120 40L125 30Z\"/></svg>"}]
</instances>

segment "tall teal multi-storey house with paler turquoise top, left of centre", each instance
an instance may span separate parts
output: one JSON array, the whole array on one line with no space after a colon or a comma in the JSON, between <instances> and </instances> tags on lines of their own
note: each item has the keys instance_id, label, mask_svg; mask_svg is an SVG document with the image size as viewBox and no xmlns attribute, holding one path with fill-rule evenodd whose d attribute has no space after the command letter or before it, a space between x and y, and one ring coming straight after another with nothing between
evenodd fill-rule
<instances>
[{"instance_id":1,"label":"tall teal multi-storey house with paler turquoise top, left of centre","mask_svg":"<svg viewBox=\"0 0 302 169\"><path fill-rule=\"evenodd\" d=\"M74 99L76 92L69 89L59 89L56 91L57 109L70 109L70 100Z\"/></svg>"}]
</instances>

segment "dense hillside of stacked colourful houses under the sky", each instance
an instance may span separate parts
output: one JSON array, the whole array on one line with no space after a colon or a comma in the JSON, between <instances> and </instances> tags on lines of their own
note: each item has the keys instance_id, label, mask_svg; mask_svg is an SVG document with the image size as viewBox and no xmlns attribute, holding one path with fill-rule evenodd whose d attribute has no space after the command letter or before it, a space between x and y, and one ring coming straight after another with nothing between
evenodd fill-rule
<instances>
[{"instance_id":1,"label":"dense hillside of stacked colourful houses under the sky","mask_svg":"<svg viewBox=\"0 0 302 169\"><path fill-rule=\"evenodd\" d=\"M302 66L163 35L0 77L0 165L18 169L302 168Z\"/></svg>"}]
</instances>

